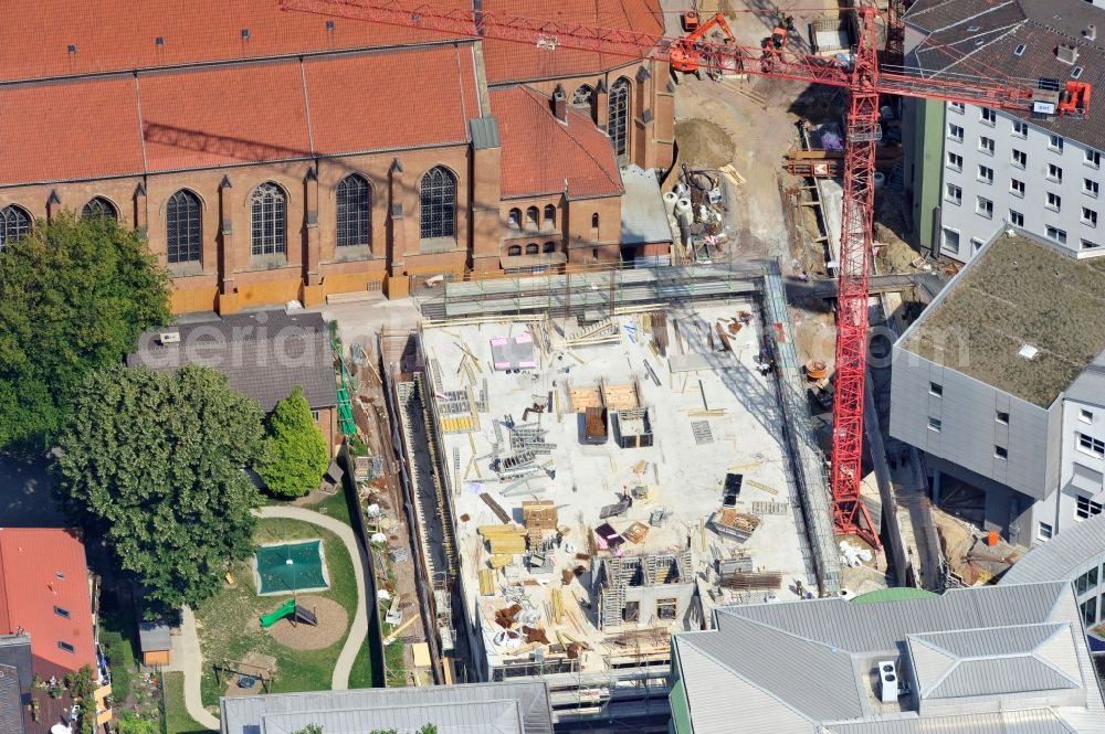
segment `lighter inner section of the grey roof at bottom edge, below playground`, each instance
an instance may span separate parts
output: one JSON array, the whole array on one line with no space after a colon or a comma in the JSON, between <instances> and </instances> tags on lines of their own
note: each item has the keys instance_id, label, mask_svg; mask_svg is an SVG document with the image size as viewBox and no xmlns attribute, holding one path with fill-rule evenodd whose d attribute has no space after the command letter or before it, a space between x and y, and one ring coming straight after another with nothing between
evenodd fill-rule
<instances>
[{"instance_id":1,"label":"lighter inner section of the grey roof at bottom edge, below playground","mask_svg":"<svg viewBox=\"0 0 1105 734\"><path fill-rule=\"evenodd\" d=\"M525 734L517 701L434 703L345 711L307 711L262 717L263 734L295 734L318 724L326 734L365 734L377 730L413 732L433 724L439 734Z\"/></svg>"}]
</instances>

